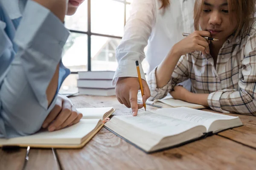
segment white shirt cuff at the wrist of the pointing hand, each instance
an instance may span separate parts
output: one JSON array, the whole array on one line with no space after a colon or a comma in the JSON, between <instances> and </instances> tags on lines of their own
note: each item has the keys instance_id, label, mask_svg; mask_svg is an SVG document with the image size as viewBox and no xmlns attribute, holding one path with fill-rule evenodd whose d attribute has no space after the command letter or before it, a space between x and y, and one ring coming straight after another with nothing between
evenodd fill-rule
<instances>
[{"instance_id":1,"label":"white shirt cuff at the wrist of the pointing hand","mask_svg":"<svg viewBox=\"0 0 256 170\"><path fill-rule=\"evenodd\" d=\"M139 62L139 66L140 66L141 78L146 81L145 74L140 62ZM116 82L119 77L138 77L135 61L125 61L125 62L118 63L118 67L116 69L116 73L112 81L113 86L116 85Z\"/></svg>"}]
</instances>

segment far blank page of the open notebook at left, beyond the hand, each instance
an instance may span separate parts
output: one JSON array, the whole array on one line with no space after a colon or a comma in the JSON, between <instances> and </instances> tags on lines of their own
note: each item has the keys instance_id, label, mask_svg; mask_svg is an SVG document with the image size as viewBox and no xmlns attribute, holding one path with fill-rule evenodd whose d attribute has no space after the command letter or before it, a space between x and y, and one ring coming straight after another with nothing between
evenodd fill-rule
<instances>
[{"instance_id":1,"label":"far blank page of the open notebook at left, beyond the hand","mask_svg":"<svg viewBox=\"0 0 256 170\"><path fill-rule=\"evenodd\" d=\"M82 119L104 119L105 114L111 111L111 108L78 108L77 111L80 111L83 114Z\"/></svg>"}]
</instances>

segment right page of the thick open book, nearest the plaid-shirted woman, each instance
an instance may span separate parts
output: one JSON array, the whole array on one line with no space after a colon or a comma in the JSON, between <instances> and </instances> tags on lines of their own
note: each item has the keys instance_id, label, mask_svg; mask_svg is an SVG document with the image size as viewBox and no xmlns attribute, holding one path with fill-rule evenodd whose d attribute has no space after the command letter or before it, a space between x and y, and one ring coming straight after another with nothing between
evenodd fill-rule
<instances>
[{"instance_id":1,"label":"right page of the thick open book, nearest the plaid-shirted woman","mask_svg":"<svg viewBox=\"0 0 256 170\"><path fill-rule=\"evenodd\" d=\"M164 115L164 116L169 116L176 119L181 119L187 122L193 122L198 125L204 125L205 127L207 127L207 130L209 126L212 124L212 122L216 120L230 120L230 119L237 118L234 116L228 116L228 115L201 111L201 110L185 108L185 107L161 108L155 111L155 113Z\"/></svg>"}]
</instances>

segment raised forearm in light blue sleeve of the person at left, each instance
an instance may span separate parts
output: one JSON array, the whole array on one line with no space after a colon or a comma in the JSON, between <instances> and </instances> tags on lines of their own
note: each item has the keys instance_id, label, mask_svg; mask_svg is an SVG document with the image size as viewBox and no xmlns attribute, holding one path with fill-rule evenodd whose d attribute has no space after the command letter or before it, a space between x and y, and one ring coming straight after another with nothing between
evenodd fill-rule
<instances>
[{"instance_id":1,"label":"raised forearm in light blue sleeve of the person at left","mask_svg":"<svg viewBox=\"0 0 256 170\"><path fill-rule=\"evenodd\" d=\"M16 57L20 58L26 79L43 107L49 106L56 93L58 65L68 35L63 23L52 12L28 1L15 35L19 46Z\"/></svg>"}]
</instances>

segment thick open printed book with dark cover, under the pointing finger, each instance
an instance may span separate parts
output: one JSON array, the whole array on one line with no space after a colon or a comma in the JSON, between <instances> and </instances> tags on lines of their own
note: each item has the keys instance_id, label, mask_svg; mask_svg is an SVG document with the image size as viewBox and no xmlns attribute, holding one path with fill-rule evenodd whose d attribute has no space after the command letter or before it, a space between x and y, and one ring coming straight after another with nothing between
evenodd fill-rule
<instances>
[{"instance_id":1,"label":"thick open printed book with dark cover, under the pointing finger","mask_svg":"<svg viewBox=\"0 0 256 170\"><path fill-rule=\"evenodd\" d=\"M154 113L144 111L137 116L113 116L105 127L152 153L241 125L239 117L180 107L161 108Z\"/></svg>"}]
</instances>

